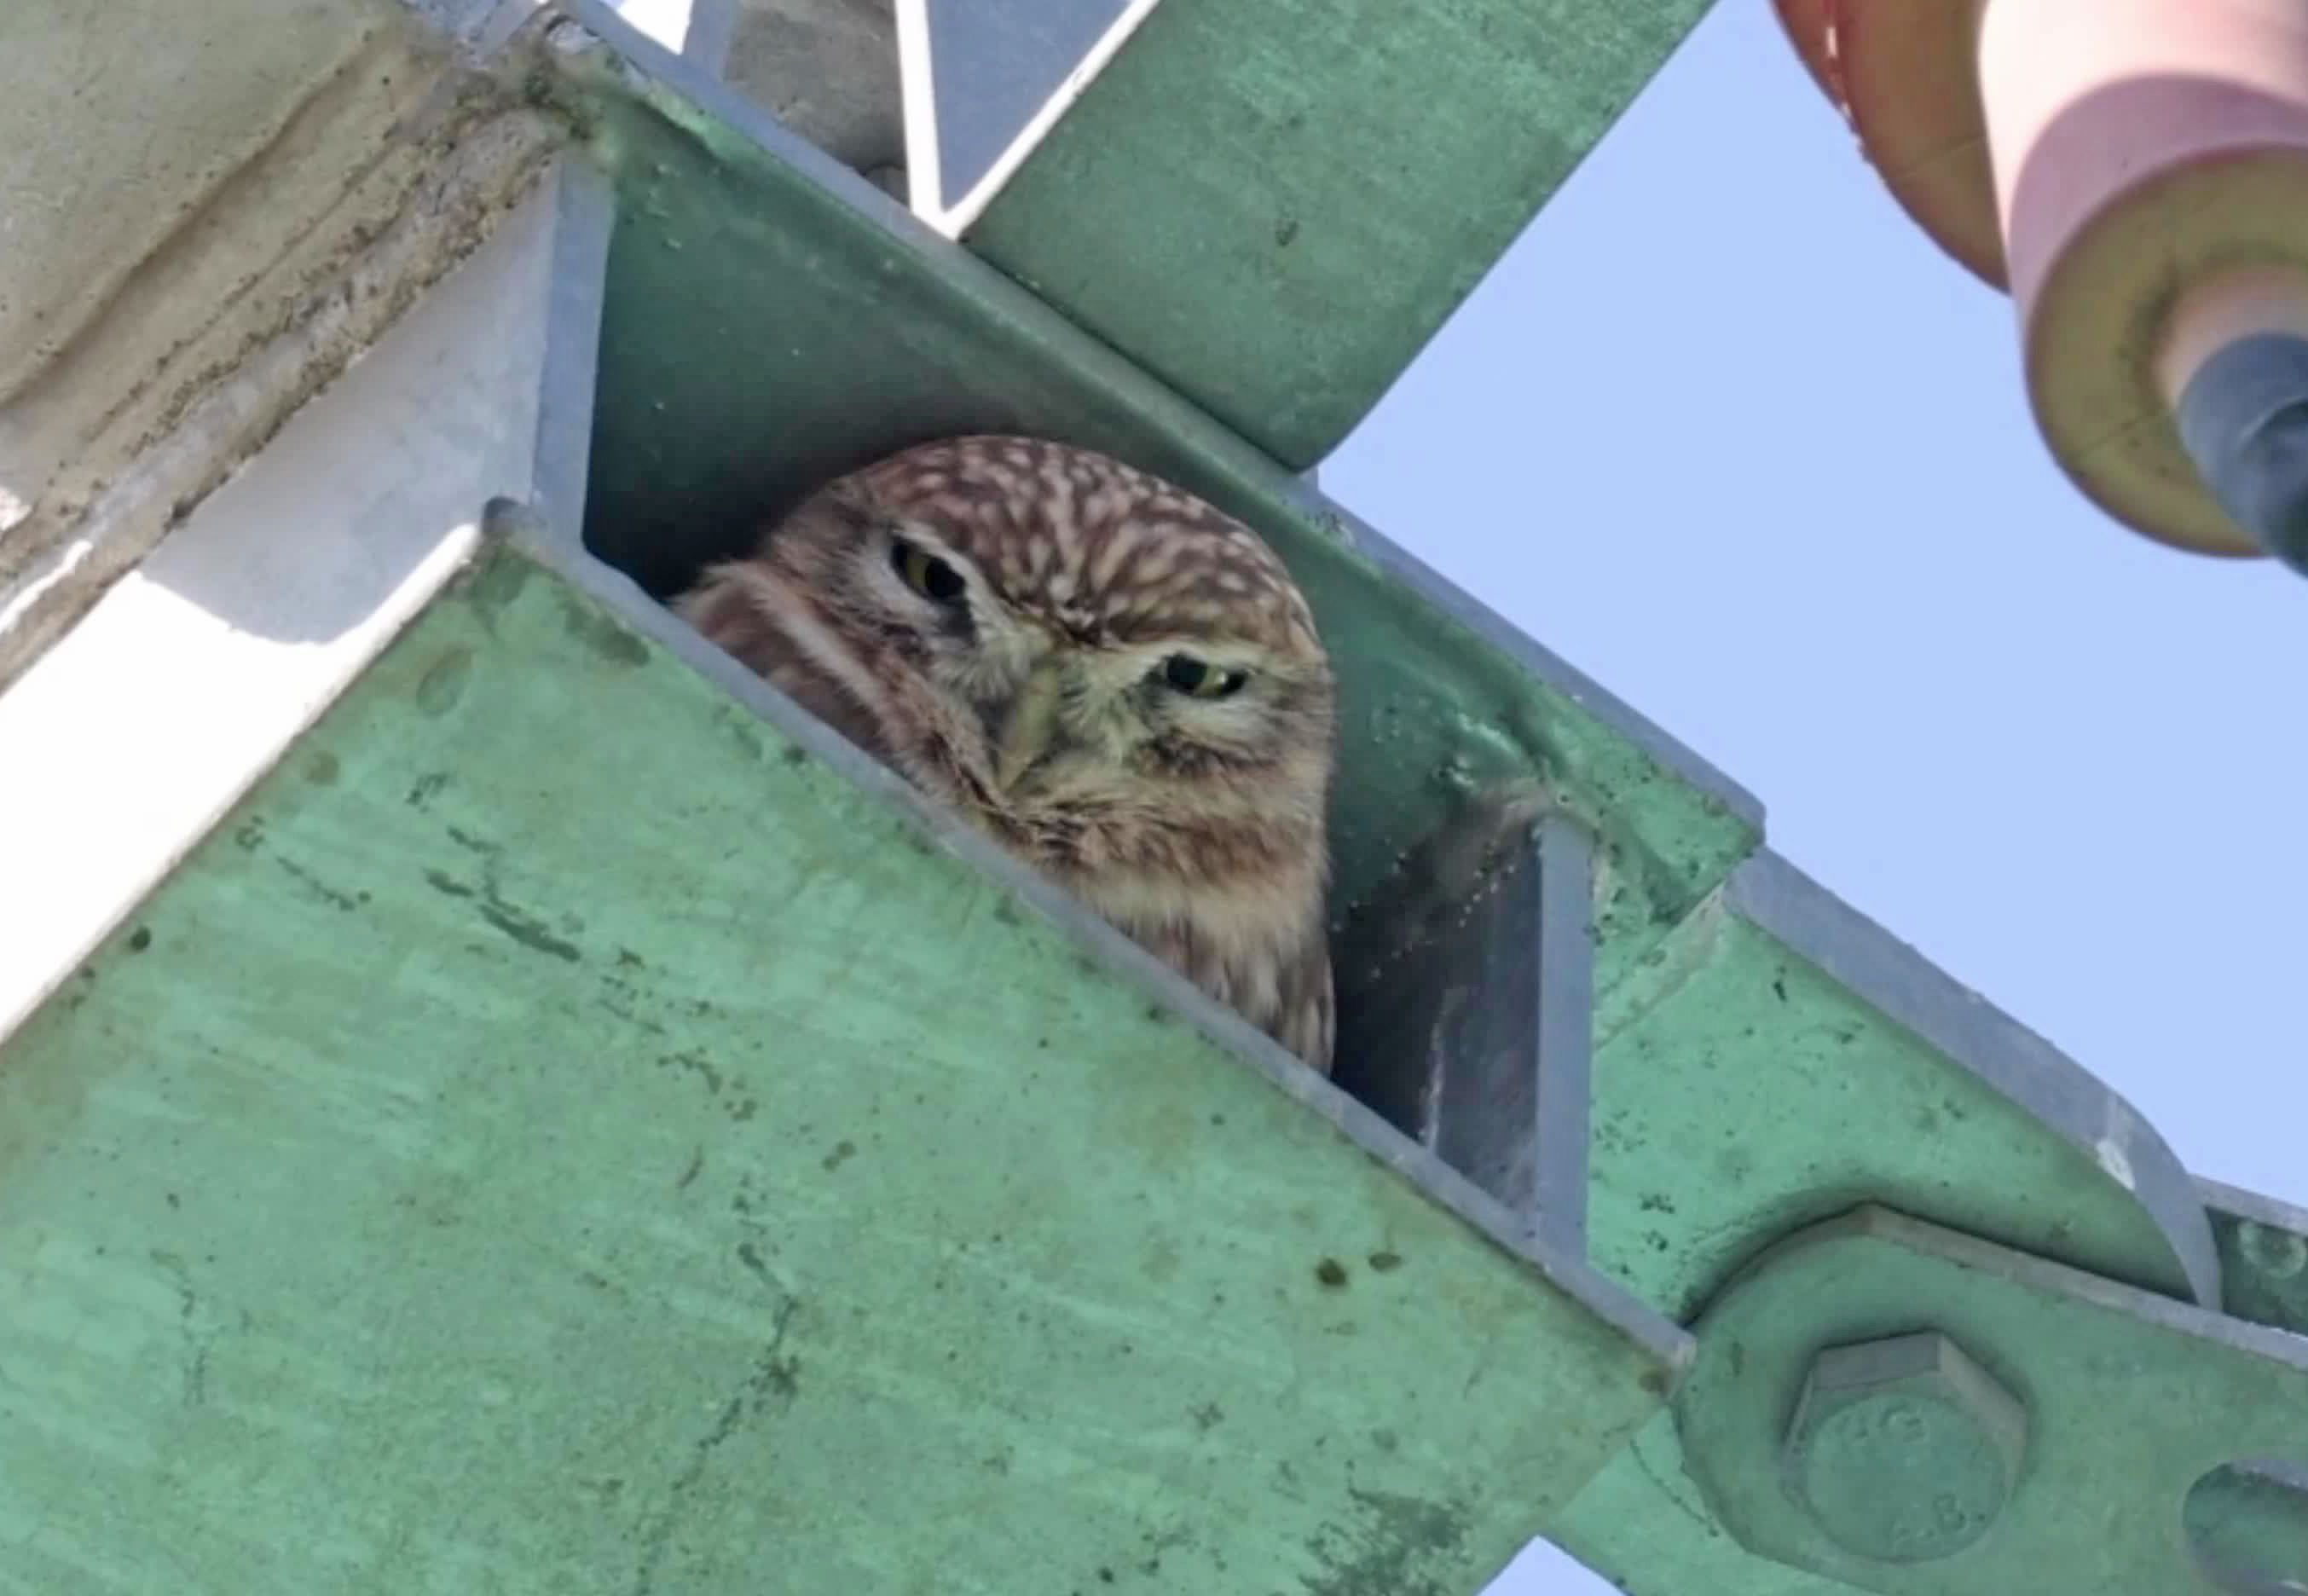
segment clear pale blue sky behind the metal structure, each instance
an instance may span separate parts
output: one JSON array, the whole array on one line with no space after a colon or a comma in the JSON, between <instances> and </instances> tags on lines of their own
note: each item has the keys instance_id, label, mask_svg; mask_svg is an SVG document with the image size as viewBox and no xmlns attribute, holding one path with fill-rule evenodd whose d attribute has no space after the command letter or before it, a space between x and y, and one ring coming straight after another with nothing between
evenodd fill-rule
<instances>
[{"instance_id":1,"label":"clear pale blue sky behind the metal structure","mask_svg":"<svg viewBox=\"0 0 2308 1596\"><path fill-rule=\"evenodd\" d=\"M2197 1174L2308 1202L2308 588L2066 482L2010 302L1906 221L1763 0L1715 7L1322 487ZM1604 1589L1535 1548L1493 1596Z\"/></svg>"}]
</instances>

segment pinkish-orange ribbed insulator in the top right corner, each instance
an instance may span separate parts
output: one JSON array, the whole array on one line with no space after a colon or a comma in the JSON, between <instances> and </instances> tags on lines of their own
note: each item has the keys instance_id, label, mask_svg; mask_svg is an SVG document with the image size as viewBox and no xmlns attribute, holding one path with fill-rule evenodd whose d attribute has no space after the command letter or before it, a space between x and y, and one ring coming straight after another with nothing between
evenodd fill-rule
<instances>
[{"instance_id":1,"label":"pinkish-orange ribbed insulator in the top right corner","mask_svg":"<svg viewBox=\"0 0 2308 1596\"><path fill-rule=\"evenodd\" d=\"M1909 217L2010 291L2036 424L2077 487L2149 537L2264 551L2174 408L2220 348L2308 328L2308 7L1775 7Z\"/></svg>"}]
</instances>

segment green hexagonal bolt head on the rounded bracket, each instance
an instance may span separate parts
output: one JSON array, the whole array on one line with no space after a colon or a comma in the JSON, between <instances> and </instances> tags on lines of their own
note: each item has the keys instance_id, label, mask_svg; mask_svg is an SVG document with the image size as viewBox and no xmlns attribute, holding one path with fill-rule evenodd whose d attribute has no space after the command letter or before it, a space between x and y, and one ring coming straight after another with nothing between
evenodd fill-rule
<instances>
[{"instance_id":1,"label":"green hexagonal bolt head on the rounded bracket","mask_svg":"<svg viewBox=\"0 0 2308 1596\"><path fill-rule=\"evenodd\" d=\"M1987 1534L2024 1453L2026 1407L1939 1333L1821 1352L1779 1448L1812 1522L1879 1564L1950 1557Z\"/></svg>"}]
</instances>

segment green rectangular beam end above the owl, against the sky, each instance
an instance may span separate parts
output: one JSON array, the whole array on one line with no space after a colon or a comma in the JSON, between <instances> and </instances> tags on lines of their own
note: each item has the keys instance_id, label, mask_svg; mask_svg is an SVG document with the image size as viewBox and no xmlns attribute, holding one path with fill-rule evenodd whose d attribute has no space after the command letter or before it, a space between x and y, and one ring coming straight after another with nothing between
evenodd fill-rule
<instances>
[{"instance_id":1,"label":"green rectangular beam end above the owl, against the sky","mask_svg":"<svg viewBox=\"0 0 2308 1596\"><path fill-rule=\"evenodd\" d=\"M1304 468L1703 12L1161 0L965 242Z\"/></svg>"}]
</instances>

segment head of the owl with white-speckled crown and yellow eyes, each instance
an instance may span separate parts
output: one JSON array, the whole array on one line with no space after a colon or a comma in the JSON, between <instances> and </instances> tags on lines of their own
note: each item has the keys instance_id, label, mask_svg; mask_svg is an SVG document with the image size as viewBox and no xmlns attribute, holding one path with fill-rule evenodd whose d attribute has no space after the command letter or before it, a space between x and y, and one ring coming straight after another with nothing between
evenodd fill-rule
<instances>
[{"instance_id":1,"label":"head of the owl with white-speckled crown and yellow eyes","mask_svg":"<svg viewBox=\"0 0 2308 1596\"><path fill-rule=\"evenodd\" d=\"M882 759L958 763L1009 807L1196 791L1191 812L1320 826L1334 690L1306 602L1249 528L1154 477L960 438L831 484L762 556Z\"/></svg>"}]
</instances>

